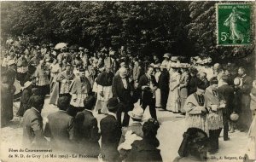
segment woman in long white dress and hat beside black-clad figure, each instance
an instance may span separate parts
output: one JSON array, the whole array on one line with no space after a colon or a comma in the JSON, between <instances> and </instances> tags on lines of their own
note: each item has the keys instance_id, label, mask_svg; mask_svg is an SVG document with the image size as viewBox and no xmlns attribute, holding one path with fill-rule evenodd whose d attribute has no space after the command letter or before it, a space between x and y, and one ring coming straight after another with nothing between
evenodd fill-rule
<instances>
[{"instance_id":1,"label":"woman in long white dress and hat beside black-clad figure","mask_svg":"<svg viewBox=\"0 0 256 162\"><path fill-rule=\"evenodd\" d=\"M173 113L178 113L180 107L178 86L180 84L181 74L178 72L179 64L172 64L172 74L170 76L170 91L168 96L168 101L166 105L166 110Z\"/></svg>"}]
</instances>

